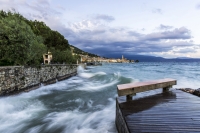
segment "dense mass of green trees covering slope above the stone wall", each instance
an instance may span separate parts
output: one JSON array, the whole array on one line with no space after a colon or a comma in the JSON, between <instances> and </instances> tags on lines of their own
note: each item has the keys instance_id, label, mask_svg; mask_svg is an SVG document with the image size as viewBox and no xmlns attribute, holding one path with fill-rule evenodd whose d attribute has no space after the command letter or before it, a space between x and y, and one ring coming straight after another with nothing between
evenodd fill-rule
<instances>
[{"instance_id":1,"label":"dense mass of green trees covering slope above the stone wall","mask_svg":"<svg viewBox=\"0 0 200 133\"><path fill-rule=\"evenodd\" d=\"M76 63L68 40L44 22L32 21L15 12L0 11L0 66L40 65L42 55L51 51L52 63ZM74 47L74 53L97 56Z\"/></svg>"}]
</instances>

